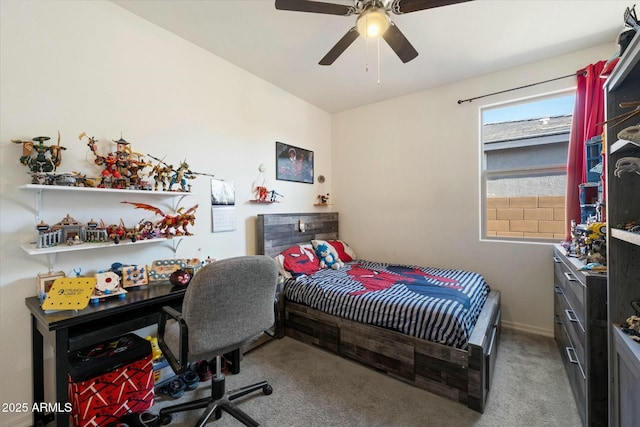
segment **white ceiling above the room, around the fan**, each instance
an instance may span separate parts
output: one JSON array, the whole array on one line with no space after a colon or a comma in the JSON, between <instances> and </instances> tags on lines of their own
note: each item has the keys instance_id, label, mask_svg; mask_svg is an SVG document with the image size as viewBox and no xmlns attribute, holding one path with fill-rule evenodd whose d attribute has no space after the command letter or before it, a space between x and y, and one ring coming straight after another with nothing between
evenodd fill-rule
<instances>
[{"instance_id":1,"label":"white ceiling above the room, around the fan","mask_svg":"<svg viewBox=\"0 0 640 427\"><path fill-rule=\"evenodd\" d=\"M625 9L633 6L475 0L391 14L416 59L403 64L381 41L378 66L377 42L358 38L333 65L321 66L355 16L278 11L273 0L112 1L330 113L595 45L611 43L613 55Z\"/></svg>"}]
</instances>

